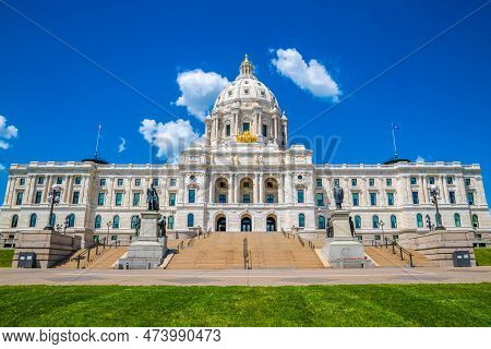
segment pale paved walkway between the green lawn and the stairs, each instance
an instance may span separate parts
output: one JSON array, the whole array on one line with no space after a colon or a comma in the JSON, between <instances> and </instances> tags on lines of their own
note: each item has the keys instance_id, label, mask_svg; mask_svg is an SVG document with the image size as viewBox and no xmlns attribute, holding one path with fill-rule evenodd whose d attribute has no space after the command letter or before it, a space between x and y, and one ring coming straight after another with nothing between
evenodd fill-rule
<instances>
[{"instance_id":1,"label":"pale paved walkway between the green lawn and the stairs","mask_svg":"<svg viewBox=\"0 0 491 349\"><path fill-rule=\"evenodd\" d=\"M254 269L254 270L77 270L0 268L0 285L283 286L491 282L491 267Z\"/></svg>"}]
</instances>

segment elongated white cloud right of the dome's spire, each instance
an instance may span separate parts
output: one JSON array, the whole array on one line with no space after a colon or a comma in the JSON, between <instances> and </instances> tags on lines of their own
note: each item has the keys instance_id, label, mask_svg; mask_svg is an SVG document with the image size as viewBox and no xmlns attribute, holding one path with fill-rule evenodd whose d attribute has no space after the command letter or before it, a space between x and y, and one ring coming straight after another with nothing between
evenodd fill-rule
<instances>
[{"instance_id":1,"label":"elongated white cloud right of the dome's spire","mask_svg":"<svg viewBox=\"0 0 491 349\"><path fill-rule=\"evenodd\" d=\"M276 50L277 59L271 62L278 73L294 81L300 88L307 89L316 97L330 97L339 100L340 91L337 83L331 77L324 65L315 59L307 63L295 48Z\"/></svg>"}]
</instances>

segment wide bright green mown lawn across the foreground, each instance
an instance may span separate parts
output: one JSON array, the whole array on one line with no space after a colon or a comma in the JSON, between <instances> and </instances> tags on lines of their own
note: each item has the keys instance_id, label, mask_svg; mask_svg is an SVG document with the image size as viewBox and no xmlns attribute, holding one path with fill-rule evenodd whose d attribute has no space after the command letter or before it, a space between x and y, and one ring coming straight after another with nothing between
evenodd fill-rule
<instances>
[{"instance_id":1,"label":"wide bright green mown lawn across the foreground","mask_svg":"<svg viewBox=\"0 0 491 349\"><path fill-rule=\"evenodd\" d=\"M491 284L0 287L8 326L491 326Z\"/></svg>"}]
</instances>

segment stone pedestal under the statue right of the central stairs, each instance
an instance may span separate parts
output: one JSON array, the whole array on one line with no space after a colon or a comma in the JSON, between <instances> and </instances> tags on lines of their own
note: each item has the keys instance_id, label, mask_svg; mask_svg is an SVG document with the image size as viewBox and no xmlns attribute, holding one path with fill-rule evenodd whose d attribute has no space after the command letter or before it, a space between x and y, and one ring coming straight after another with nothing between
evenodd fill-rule
<instances>
[{"instance_id":1,"label":"stone pedestal under the statue right of the central stairs","mask_svg":"<svg viewBox=\"0 0 491 349\"><path fill-rule=\"evenodd\" d=\"M335 268L362 268L371 266L366 260L363 245L351 237L349 212L336 209L331 214L334 238L325 241L322 253Z\"/></svg>"}]
</instances>

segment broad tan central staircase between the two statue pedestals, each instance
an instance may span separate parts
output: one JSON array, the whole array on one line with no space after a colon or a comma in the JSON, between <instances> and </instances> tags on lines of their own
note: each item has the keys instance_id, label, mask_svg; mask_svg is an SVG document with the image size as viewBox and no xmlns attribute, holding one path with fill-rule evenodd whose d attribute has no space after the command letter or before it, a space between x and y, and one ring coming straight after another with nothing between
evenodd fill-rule
<instances>
[{"instance_id":1,"label":"broad tan central staircase between the two statue pedestals","mask_svg":"<svg viewBox=\"0 0 491 349\"><path fill-rule=\"evenodd\" d=\"M181 249L168 269L323 268L308 242L279 232L215 232Z\"/></svg>"}]
</instances>

